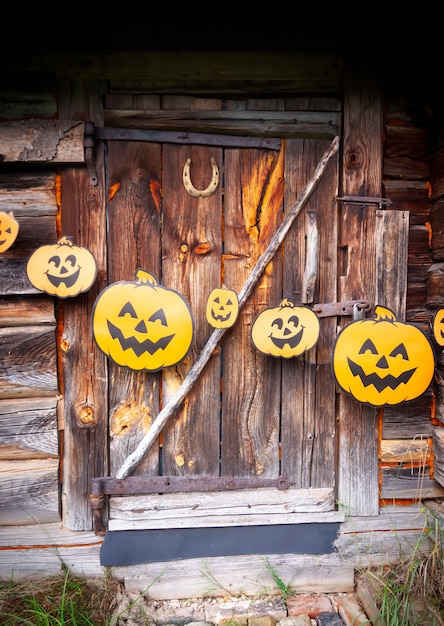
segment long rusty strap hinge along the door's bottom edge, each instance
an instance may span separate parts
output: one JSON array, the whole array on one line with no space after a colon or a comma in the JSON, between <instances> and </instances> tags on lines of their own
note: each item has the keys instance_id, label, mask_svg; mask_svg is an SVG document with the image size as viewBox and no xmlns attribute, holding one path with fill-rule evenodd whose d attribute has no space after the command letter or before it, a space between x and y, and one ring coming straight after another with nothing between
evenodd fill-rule
<instances>
[{"instance_id":1,"label":"long rusty strap hinge along the door's bottom edge","mask_svg":"<svg viewBox=\"0 0 444 626\"><path fill-rule=\"evenodd\" d=\"M99 477L91 481L90 503L96 535L106 533L103 523L105 496L147 495L150 493L177 493L203 491L233 491L275 487L289 489L285 476L277 478L248 478L236 476L128 476L127 478Z\"/></svg>"}]
</instances>

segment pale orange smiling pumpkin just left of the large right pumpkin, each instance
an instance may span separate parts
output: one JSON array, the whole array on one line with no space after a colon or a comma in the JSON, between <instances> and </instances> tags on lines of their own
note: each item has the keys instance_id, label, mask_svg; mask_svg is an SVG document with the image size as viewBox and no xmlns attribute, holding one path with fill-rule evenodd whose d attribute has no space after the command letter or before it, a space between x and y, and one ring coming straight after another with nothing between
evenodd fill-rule
<instances>
[{"instance_id":1,"label":"pale orange smiling pumpkin just left of the large right pumpkin","mask_svg":"<svg viewBox=\"0 0 444 626\"><path fill-rule=\"evenodd\" d=\"M258 350L271 356L291 358L310 350L319 338L319 318L305 305L288 298L256 317L251 338Z\"/></svg>"}]
</instances>

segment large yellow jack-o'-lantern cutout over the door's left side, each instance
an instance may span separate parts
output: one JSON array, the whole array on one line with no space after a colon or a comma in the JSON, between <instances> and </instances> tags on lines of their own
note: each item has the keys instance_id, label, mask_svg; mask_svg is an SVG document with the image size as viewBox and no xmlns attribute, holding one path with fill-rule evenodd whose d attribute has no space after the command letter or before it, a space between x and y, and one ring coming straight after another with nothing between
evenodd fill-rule
<instances>
[{"instance_id":1,"label":"large yellow jack-o'-lantern cutout over the door's left side","mask_svg":"<svg viewBox=\"0 0 444 626\"><path fill-rule=\"evenodd\" d=\"M98 295L92 325L100 350L136 371L176 365L186 356L194 333L184 298L140 268L133 281L112 283Z\"/></svg>"}]
</instances>

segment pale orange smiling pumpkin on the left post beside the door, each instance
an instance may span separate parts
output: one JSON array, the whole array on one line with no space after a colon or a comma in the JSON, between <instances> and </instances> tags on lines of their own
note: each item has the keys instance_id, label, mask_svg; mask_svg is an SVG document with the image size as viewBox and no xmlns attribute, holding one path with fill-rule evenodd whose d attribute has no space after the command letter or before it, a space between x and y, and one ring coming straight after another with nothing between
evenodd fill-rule
<instances>
[{"instance_id":1,"label":"pale orange smiling pumpkin on the left post beside the door","mask_svg":"<svg viewBox=\"0 0 444 626\"><path fill-rule=\"evenodd\" d=\"M40 246L29 257L26 273L40 291L59 298L72 298L88 291L97 276L93 254L62 237L56 244Z\"/></svg>"}]
</instances>

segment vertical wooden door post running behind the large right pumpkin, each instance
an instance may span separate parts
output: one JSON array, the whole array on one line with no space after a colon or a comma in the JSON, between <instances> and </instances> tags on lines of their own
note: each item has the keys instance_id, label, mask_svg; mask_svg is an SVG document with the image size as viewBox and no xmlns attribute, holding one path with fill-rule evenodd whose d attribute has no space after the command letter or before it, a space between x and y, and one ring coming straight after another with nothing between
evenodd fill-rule
<instances>
[{"instance_id":1,"label":"vertical wooden door post running behind the large right pumpkin","mask_svg":"<svg viewBox=\"0 0 444 626\"><path fill-rule=\"evenodd\" d=\"M381 197L382 103L374 59L363 72L362 60L350 59L344 76L344 148L342 194ZM364 78L365 76L365 78ZM363 112L365 111L365 114ZM341 208L338 300L375 301L378 282L375 248L375 209ZM358 405L347 394L338 396L338 500L353 515L377 515L376 411Z\"/></svg>"}]
</instances>

